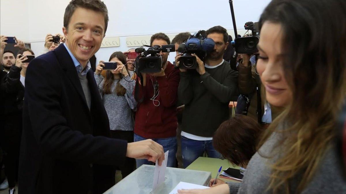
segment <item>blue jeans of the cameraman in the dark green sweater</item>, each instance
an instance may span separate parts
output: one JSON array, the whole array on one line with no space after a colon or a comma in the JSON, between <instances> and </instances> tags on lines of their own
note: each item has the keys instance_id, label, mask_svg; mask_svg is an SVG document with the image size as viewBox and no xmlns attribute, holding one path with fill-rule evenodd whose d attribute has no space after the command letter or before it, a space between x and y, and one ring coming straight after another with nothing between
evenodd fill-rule
<instances>
[{"instance_id":1,"label":"blue jeans of the cameraman in the dark green sweater","mask_svg":"<svg viewBox=\"0 0 346 194\"><path fill-rule=\"evenodd\" d=\"M181 136L181 153L183 155L184 168L188 167L198 157L203 156L204 151L210 158L220 158L221 154L213 147L213 140L193 140Z\"/></svg>"}]
</instances>

